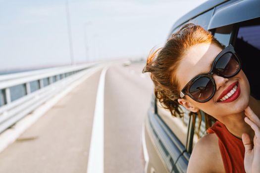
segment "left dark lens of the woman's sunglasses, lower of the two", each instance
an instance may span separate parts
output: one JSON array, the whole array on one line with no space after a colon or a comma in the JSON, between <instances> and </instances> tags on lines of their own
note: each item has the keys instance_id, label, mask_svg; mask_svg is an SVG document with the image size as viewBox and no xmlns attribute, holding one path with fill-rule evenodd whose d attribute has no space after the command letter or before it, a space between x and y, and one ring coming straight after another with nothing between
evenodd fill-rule
<instances>
[{"instance_id":1,"label":"left dark lens of the woman's sunglasses, lower of the two","mask_svg":"<svg viewBox=\"0 0 260 173\"><path fill-rule=\"evenodd\" d=\"M197 79L190 87L190 93L200 101L208 99L213 90L213 83L207 77Z\"/></svg>"}]
</instances>

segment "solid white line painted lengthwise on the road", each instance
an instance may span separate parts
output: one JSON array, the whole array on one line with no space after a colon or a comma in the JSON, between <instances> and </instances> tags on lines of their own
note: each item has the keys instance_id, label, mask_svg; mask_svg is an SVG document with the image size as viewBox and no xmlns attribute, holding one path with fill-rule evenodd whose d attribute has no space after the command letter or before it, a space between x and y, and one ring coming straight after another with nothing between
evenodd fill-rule
<instances>
[{"instance_id":1,"label":"solid white line painted lengthwise on the road","mask_svg":"<svg viewBox=\"0 0 260 173\"><path fill-rule=\"evenodd\" d=\"M87 173L104 173L104 82L107 69L104 67L99 80Z\"/></svg>"}]
</instances>

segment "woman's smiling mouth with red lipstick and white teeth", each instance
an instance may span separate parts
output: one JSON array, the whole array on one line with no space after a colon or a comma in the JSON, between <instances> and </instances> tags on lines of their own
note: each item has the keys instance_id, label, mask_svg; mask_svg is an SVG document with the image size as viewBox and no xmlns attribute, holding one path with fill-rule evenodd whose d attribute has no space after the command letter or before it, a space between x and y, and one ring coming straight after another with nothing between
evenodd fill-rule
<instances>
[{"instance_id":1,"label":"woman's smiling mouth with red lipstick and white teeth","mask_svg":"<svg viewBox=\"0 0 260 173\"><path fill-rule=\"evenodd\" d=\"M217 102L227 103L232 102L240 95L240 86L238 82L231 84L226 90L219 96Z\"/></svg>"}]
</instances>

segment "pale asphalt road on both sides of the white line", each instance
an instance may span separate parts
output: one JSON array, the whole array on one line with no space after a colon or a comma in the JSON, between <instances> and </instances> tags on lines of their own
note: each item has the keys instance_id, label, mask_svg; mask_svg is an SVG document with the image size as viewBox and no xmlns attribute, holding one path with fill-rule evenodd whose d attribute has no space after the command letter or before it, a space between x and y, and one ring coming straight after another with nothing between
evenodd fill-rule
<instances>
[{"instance_id":1,"label":"pale asphalt road on both sides of the white line","mask_svg":"<svg viewBox=\"0 0 260 173\"><path fill-rule=\"evenodd\" d=\"M141 131L153 84L144 63L109 65L104 86L104 173L143 173ZM101 71L64 96L0 153L0 173L86 173Z\"/></svg>"}]
</instances>

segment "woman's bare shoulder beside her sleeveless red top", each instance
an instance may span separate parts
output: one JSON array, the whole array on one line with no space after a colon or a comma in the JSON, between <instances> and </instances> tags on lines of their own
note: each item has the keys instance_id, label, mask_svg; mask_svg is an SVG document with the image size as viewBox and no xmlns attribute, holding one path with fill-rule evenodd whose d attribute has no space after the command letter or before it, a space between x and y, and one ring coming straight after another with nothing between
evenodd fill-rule
<instances>
[{"instance_id":1,"label":"woman's bare shoulder beside her sleeveless red top","mask_svg":"<svg viewBox=\"0 0 260 173\"><path fill-rule=\"evenodd\" d=\"M188 165L188 173L224 172L216 134L202 137L195 145Z\"/></svg>"}]
</instances>

